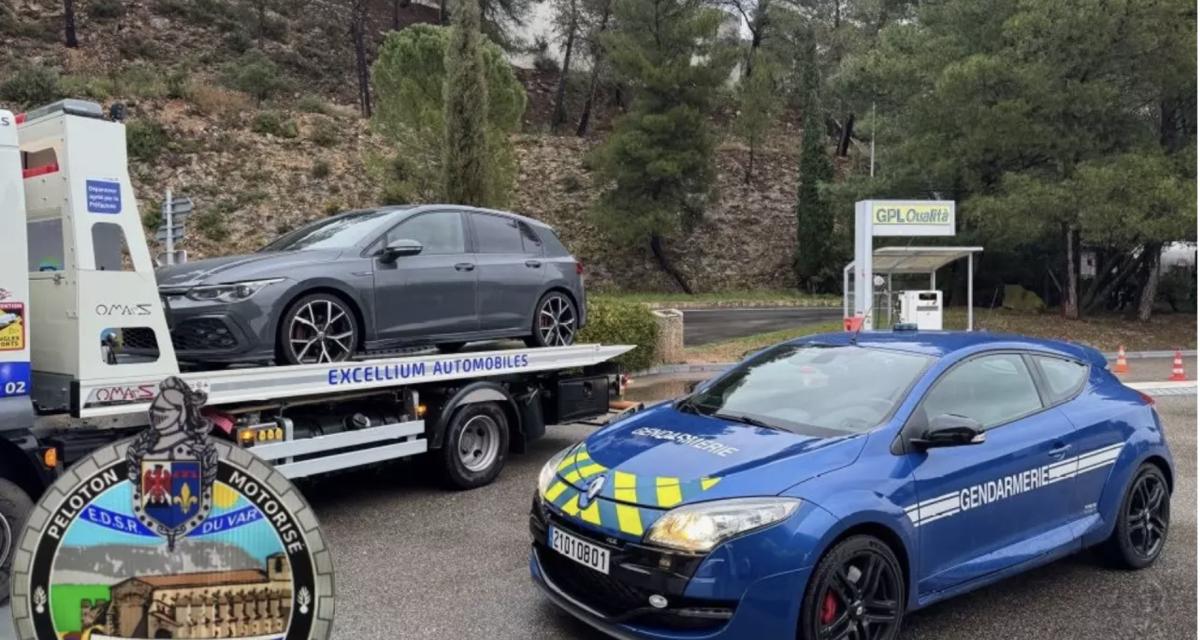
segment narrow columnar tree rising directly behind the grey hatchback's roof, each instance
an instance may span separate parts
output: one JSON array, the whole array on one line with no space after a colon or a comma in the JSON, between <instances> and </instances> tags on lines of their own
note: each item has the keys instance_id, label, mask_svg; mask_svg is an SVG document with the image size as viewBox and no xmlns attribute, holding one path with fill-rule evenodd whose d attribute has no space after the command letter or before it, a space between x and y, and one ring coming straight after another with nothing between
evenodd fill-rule
<instances>
[{"instance_id":1,"label":"narrow columnar tree rising directly behind the grey hatchback's roof","mask_svg":"<svg viewBox=\"0 0 1200 640\"><path fill-rule=\"evenodd\" d=\"M479 20L478 0L455 2L444 98L446 199L473 205L488 204L487 82Z\"/></svg>"}]
</instances>

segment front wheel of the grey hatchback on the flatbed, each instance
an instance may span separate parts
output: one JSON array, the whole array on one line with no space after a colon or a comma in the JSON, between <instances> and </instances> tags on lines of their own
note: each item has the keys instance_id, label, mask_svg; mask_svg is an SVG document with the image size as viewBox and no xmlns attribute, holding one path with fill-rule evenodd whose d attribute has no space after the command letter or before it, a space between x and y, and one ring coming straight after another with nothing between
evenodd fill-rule
<instances>
[{"instance_id":1,"label":"front wheel of the grey hatchback on the flatbed","mask_svg":"<svg viewBox=\"0 0 1200 640\"><path fill-rule=\"evenodd\" d=\"M328 293L305 295L283 315L278 353L286 364L342 363L359 341L354 312Z\"/></svg>"}]
</instances>

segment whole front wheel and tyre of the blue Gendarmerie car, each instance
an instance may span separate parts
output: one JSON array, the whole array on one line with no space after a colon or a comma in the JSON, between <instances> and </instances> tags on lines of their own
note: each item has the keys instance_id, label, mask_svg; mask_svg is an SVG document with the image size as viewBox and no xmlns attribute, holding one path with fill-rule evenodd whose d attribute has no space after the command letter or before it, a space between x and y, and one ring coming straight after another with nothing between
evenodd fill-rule
<instances>
[{"instance_id":1,"label":"whole front wheel and tyre of the blue Gendarmerie car","mask_svg":"<svg viewBox=\"0 0 1200 640\"><path fill-rule=\"evenodd\" d=\"M800 640L893 640L904 616L904 572L870 536L847 538L817 564L800 610Z\"/></svg>"}]
</instances>

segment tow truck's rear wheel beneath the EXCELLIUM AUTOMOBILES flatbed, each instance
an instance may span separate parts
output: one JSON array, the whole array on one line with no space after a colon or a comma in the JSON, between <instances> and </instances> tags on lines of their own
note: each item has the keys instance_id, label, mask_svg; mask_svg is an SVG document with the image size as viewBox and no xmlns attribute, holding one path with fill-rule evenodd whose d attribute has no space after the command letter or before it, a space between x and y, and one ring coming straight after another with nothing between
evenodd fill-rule
<instances>
[{"instance_id":1,"label":"tow truck's rear wheel beneath the EXCELLIUM AUTOMOBILES flatbed","mask_svg":"<svg viewBox=\"0 0 1200 640\"><path fill-rule=\"evenodd\" d=\"M509 451L509 419L494 402L463 405L446 424L442 474L454 489L491 484Z\"/></svg>"}]
</instances>

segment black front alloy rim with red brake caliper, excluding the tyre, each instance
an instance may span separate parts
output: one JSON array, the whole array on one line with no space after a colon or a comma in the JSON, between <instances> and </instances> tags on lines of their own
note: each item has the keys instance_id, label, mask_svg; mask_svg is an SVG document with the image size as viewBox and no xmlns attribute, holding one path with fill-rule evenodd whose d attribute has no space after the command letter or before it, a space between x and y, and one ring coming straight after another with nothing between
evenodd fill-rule
<instances>
[{"instance_id":1,"label":"black front alloy rim with red brake caliper, excluding the tyre","mask_svg":"<svg viewBox=\"0 0 1200 640\"><path fill-rule=\"evenodd\" d=\"M900 576L882 555L864 549L821 585L820 640L880 640L900 624Z\"/></svg>"}]
</instances>

